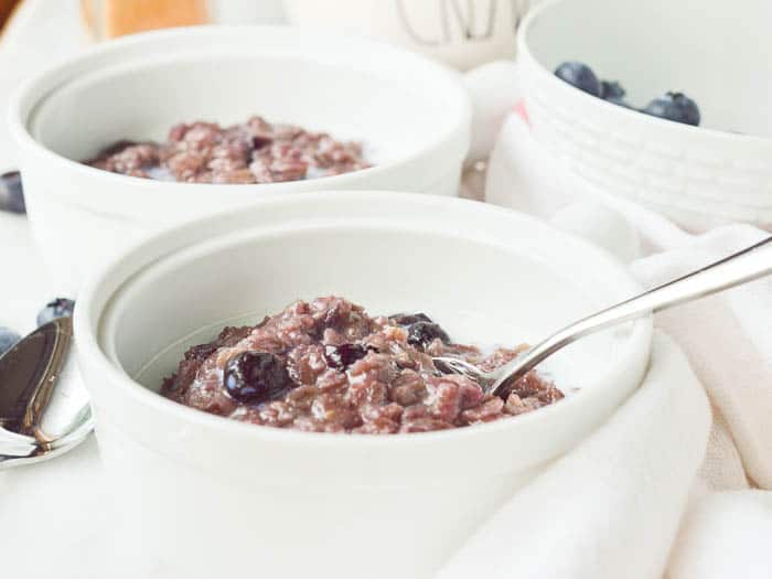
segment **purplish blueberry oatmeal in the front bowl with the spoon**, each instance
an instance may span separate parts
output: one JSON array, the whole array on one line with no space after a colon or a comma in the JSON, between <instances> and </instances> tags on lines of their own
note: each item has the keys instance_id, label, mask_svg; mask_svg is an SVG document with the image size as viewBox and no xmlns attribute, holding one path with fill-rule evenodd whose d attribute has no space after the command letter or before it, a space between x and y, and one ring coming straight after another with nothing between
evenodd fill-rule
<instances>
[{"instance_id":1,"label":"purplish blueberry oatmeal in the front bowl with the spoon","mask_svg":"<svg viewBox=\"0 0 772 579\"><path fill-rule=\"evenodd\" d=\"M438 371L457 356L490 371L525 346L484 356L426 314L369 317L342 298L298 301L256 326L191 347L161 393L234 420L314 432L426 432L529 412L564 397L530 372L504 397Z\"/></svg>"}]
</instances>

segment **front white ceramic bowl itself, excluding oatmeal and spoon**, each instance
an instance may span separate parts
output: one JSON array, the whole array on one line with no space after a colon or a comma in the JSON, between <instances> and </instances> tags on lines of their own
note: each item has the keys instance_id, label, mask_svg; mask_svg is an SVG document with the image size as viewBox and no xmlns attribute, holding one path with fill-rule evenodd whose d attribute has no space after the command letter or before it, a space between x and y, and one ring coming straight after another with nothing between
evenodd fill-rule
<instances>
[{"instance_id":1,"label":"front white ceramic bowl itself, excluding oatmeal and spoon","mask_svg":"<svg viewBox=\"0 0 772 579\"><path fill-rule=\"evenodd\" d=\"M87 285L75 319L108 487L126 547L143 554L116 567L133 577L148 576L140 564L190 578L428 577L635 389L651 340L641 320L560 353L548 369L569 395L551 407L377 437L239 423L153 392L186 347L225 324L335 293L374 313L427 311L458 341L514 344L637 290L581 239L432 195L286 195L144 242Z\"/></svg>"}]
</instances>

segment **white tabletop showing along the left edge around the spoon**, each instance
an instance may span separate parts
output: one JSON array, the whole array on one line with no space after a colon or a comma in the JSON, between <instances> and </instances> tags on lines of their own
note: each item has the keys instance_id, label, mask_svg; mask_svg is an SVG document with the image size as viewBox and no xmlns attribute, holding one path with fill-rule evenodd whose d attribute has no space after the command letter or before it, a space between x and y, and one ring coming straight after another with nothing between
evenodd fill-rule
<instances>
[{"instance_id":1,"label":"white tabletop showing along the left edge around the spoon","mask_svg":"<svg viewBox=\"0 0 772 579\"><path fill-rule=\"evenodd\" d=\"M235 19L232 2L242 0L228 0ZM278 0L261 2L251 15L275 21ZM0 172L17 165L4 122L9 95L31 72L51 65L52 55L92 42L78 14L78 0L24 0L0 37ZM26 218L0 212L0 325L32 331L36 312L54 297ZM0 471L0 577L104 579L119 532L93 437L54 461Z\"/></svg>"}]
</instances>

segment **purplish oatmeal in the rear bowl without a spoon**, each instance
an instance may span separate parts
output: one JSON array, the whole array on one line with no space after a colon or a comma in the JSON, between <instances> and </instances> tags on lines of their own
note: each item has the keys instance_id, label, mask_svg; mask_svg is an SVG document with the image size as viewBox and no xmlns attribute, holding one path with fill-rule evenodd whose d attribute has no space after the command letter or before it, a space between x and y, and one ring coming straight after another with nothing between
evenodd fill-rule
<instances>
[{"instance_id":1,"label":"purplish oatmeal in the rear bowl without a spoon","mask_svg":"<svg viewBox=\"0 0 772 579\"><path fill-rule=\"evenodd\" d=\"M130 176L187 183L275 183L349 173L369 165L362 144L261 117L221 127L176 125L164 142L119 141L86 164Z\"/></svg>"}]
</instances>

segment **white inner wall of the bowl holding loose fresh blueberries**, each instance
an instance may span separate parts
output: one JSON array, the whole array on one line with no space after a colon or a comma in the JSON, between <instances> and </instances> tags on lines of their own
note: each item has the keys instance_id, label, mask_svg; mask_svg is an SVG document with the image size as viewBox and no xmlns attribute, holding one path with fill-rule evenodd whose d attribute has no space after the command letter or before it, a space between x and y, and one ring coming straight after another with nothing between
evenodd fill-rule
<instances>
[{"instance_id":1,"label":"white inner wall of the bowl holding loose fresh blueberries","mask_svg":"<svg viewBox=\"0 0 772 579\"><path fill-rule=\"evenodd\" d=\"M770 21L765 0L564 0L544 7L525 42L550 72L580 61L621 82L634 106L684 92L703 126L770 137Z\"/></svg>"}]
</instances>

